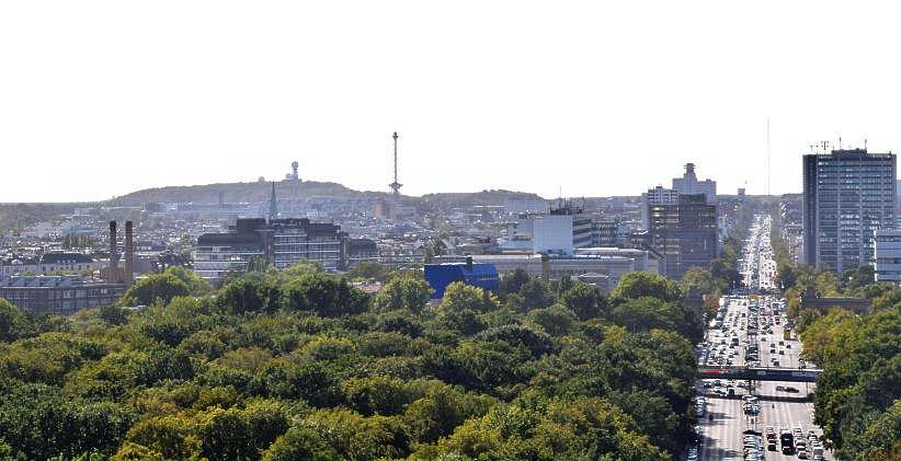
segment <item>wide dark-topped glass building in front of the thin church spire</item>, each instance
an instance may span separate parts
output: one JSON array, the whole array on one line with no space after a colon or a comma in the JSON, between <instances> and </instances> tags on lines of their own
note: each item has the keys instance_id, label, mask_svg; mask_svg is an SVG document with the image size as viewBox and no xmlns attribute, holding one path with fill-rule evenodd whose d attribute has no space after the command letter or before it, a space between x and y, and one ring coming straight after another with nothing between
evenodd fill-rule
<instances>
[{"instance_id":1,"label":"wide dark-topped glass building in front of the thin church spire","mask_svg":"<svg viewBox=\"0 0 901 461\"><path fill-rule=\"evenodd\" d=\"M218 285L229 274L258 264L281 270L309 261L326 270L342 270L347 265L347 240L340 226L306 218L238 219L229 232L197 238L194 274Z\"/></svg>"}]
</instances>

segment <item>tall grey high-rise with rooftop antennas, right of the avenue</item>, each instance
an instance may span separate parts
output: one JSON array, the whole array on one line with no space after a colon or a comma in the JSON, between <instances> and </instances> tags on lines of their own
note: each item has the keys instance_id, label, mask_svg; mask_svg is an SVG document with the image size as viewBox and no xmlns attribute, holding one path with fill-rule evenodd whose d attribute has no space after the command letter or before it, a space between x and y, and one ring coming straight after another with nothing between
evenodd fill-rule
<instances>
[{"instance_id":1,"label":"tall grey high-rise with rooftop antennas, right of the avenue","mask_svg":"<svg viewBox=\"0 0 901 461\"><path fill-rule=\"evenodd\" d=\"M874 233L894 228L896 172L891 152L803 155L803 262L837 274L873 264Z\"/></svg>"}]
</instances>

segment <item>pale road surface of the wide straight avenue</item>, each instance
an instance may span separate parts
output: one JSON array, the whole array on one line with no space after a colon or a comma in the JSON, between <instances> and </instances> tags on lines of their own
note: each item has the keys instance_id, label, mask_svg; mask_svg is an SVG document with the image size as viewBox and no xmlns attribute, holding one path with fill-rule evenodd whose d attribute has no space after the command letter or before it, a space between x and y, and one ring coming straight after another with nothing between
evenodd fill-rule
<instances>
[{"instance_id":1,"label":"pale road surface of the wide straight avenue","mask_svg":"<svg viewBox=\"0 0 901 461\"><path fill-rule=\"evenodd\" d=\"M769 217L757 216L750 232L742 255L742 275L745 287L752 292L772 290L775 288L776 264L773 261L769 244ZM706 332L706 341L699 355L699 365L711 366L751 366L798 368L801 344L794 333L790 339L784 338L786 327L785 302L774 296L733 295L723 297L720 301L720 325L712 325ZM710 326L710 325L708 325ZM719 326L719 327L717 327ZM756 326L756 329L755 329ZM734 339L737 338L737 339ZM737 342L738 344L733 343ZM752 345L756 345L754 350ZM756 353L756 356L755 356ZM717 385L719 384L719 385ZM749 395L749 384L753 389L751 395L756 395L759 413L745 414L745 395ZM778 390L777 390L778 387ZM784 389L797 390L787 392ZM800 428L807 436L809 430L821 435L819 427L812 423L813 404L803 397L812 392L812 383L794 382L735 382L720 380L704 380L698 385L698 392L704 397L706 411L699 418L700 460L792 460L798 454L783 454L780 446L776 443L775 451L767 450L765 436L761 439L762 450L760 458L746 458L745 437L748 429L765 433L772 426L776 434L780 428ZM729 392L734 396L729 397ZM769 400L769 399L782 400ZM786 401L796 400L796 401ZM710 418L712 416L712 418ZM829 452L823 459L834 459ZM691 458L689 458L691 459ZM812 454L809 459L813 459Z\"/></svg>"}]
</instances>

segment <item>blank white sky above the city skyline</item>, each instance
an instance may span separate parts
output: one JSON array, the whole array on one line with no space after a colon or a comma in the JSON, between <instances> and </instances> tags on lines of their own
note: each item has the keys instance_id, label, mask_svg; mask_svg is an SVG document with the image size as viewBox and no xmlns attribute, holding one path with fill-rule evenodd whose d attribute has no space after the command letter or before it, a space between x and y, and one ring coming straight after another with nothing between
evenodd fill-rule
<instances>
[{"instance_id":1,"label":"blank white sky above the city skyline","mask_svg":"<svg viewBox=\"0 0 901 461\"><path fill-rule=\"evenodd\" d=\"M4 1L0 201L282 178L797 193L901 150L894 2ZM767 182L769 119L771 176Z\"/></svg>"}]
</instances>

